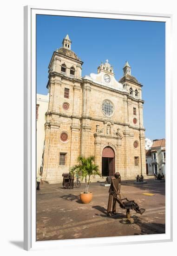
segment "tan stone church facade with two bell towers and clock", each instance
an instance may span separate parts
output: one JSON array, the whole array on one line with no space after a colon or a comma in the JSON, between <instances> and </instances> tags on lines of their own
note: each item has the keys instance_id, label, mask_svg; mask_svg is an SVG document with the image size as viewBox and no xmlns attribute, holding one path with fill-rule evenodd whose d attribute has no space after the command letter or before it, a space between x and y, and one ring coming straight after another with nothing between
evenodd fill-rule
<instances>
[{"instance_id":1,"label":"tan stone church facade with two bell towers and clock","mask_svg":"<svg viewBox=\"0 0 177 256\"><path fill-rule=\"evenodd\" d=\"M82 77L68 35L62 44L49 64L43 179L61 182L79 155L94 155L102 176L145 175L142 85L129 63L119 81L108 60Z\"/></svg>"}]
</instances>

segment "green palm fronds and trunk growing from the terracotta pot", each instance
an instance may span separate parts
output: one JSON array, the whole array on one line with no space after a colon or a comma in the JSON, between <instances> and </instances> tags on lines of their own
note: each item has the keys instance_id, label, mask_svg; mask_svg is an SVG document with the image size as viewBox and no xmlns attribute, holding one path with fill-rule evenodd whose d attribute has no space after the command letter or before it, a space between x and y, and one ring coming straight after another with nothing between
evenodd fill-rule
<instances>
[{"instance_id":1,"label":"green palm fronds and trunk growing from the terracotta pot","mask_svg":"<svg viewBox=\"0 0 177 256\"><path fill-rule=\"evenodd\" d=\"M72 174L76 174L81 176L82 181L85 178L85 194L88 193L89 183L90 183L90 177L92 175L99 175L101 176L98 165L95 165L94 162L95 158L93 155L85 157L85 156L79 156L78 157L78 164L74 165L70 171ZM87 176L88 176L88 182L87 182Z\"/></svg>"}]
</instances>

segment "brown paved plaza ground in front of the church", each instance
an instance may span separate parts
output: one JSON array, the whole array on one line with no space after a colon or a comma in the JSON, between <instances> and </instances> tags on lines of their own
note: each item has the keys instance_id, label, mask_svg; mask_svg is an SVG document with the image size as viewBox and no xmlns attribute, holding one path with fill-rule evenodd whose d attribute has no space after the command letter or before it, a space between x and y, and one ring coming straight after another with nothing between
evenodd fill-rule
<instances>
[{"instance_id":1,"label":"brown paved plaza ground in front of the church","mask_svg":"<svg viewBox=\"0 0 177 256\"><path fill-rule=\"evenodd\" d=\"M138 216L138 222L128 225L119 222L126 216L126 210L118 204L118 214L106 216L109 187L102 187L99 182L89 185L89 191L93 192L89 204L79 200L79 193L85 189L84 183L74 189L64 189L61 183L40 184L37 191L37 241L165 233L165 182L146 181L146 184L138 185L134 181L122 181L123 195L146 209L143 215L131 210L131 216Z\"/></svg>"}]
</instances>

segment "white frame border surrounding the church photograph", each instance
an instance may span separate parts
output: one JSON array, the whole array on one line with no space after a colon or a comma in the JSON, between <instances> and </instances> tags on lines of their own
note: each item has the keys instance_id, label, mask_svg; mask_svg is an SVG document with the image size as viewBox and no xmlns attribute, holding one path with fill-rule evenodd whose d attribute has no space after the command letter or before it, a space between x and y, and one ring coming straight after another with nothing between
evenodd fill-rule
<instances>
[{"instance_id":1,"label":"white frame border surrounding the church photograph","mask_svg":"<svg viewBox=\"0 0 177 256\"><path fill-rule=\"evenodd\" d=\"M153 20L165 22L165 85L166 89L166 180L165 234L88 238L36 242L36 14L114 18L125 20ZM171 20L170 14L130 13L99 10L24 7L24 249L59 249L70 245L115 245L172 241L172 84L171 84ZM167 125L168 124L168 125Z\"/></svg>"}]
</instances>

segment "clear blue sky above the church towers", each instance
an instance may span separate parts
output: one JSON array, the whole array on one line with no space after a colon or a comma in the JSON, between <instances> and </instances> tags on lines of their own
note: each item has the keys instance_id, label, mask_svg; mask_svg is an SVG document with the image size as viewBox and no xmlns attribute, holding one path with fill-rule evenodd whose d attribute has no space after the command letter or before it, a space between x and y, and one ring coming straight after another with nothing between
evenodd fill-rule
<instances>
[{"instance_id":1,"label":"clear blue sky above the church towers","mask_svg":"<svg viewBox=\"0 0 177 256\"><path fill-rule=\"evenodd\" d=\"M146 137L165 137L165 23L37 15L37 93L47 94L52 53L69 34L72 51L84 61L82 76L97 73L109 60L115 78L123 76L128 61L131 74L144 86Z\"/></svg>"}]
</instances>

